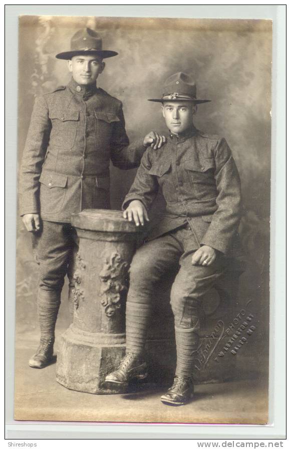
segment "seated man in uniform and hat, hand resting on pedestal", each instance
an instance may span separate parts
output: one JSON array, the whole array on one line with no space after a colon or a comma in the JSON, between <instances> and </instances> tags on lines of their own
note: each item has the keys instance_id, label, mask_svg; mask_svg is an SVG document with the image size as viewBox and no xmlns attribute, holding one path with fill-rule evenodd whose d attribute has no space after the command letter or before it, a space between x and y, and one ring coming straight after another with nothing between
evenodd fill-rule
<instances>
[{"instance_id":1,"label":"seated man in uniform and hat, hand resting on pedestal","mask_svg":"<svg viewBox=\"0 0 291 449\"><path fill-rule=\"evenodd\" d=\"M192 373L199 342L201 301L230 263L240 217L240 181L224 138L193 125L196 85L185 73L169 77L161 99L170 137L161 151L148 148L125 198L124 217L136 226L148 221L147 210L159 186L166 211L130 268L126 304L126 355L106 382L127 384L147 375L144 346L155 286L179 265L171 289L177 365L174 383L161 401L182 405L193 394Z\"/></svg>"}]
</instances>

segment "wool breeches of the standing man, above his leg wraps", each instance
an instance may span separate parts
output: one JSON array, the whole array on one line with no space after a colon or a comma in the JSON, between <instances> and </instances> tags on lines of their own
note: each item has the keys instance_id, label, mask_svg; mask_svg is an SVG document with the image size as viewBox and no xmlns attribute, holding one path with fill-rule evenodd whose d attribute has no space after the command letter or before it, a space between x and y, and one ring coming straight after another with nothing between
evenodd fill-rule
<instances>
[{"instance_id":1,"label":"wool breeches of the standing man, above his leg wraps","mask_svg":"<svg viewBox=\"0 0 291 449\"><path fill-rule=\"evenodd\" d=\"M66 274L72 279L78 237L70 223L42 221L40 232L32 235L33 250L40 266L40 290L61 292Z\"/></svg>"}]
</instances>

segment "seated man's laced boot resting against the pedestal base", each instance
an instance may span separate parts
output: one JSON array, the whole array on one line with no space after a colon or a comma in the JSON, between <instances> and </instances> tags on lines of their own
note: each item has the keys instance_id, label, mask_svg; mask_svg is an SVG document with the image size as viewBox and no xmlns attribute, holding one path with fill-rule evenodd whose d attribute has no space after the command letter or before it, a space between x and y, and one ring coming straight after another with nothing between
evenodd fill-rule
<instances>
[{"instance_id":1,"label":"seated man's laced boot resting against the pedestal base","mask_svg":"<svg viewBox=\"0 0 291 449\"><path fill-rule=\"evenodd\" d=\"M106 376L105 382L127 385L130 380L142 380L147 375L146 362L141 361L137 354L128 352L121 360L117 370Z\"/></svg>"}]
</instances>

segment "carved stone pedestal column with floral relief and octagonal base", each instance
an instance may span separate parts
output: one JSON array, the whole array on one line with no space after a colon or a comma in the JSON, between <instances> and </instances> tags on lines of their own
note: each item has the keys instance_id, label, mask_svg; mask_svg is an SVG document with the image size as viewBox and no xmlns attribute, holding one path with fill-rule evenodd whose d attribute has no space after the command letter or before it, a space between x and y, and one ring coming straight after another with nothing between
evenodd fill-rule
<instances>
[{"instance_id":1,"label":"carved stone pedestal column with floral relief and octagonal base","mask_svg":"<svg viewBox=\"0 0 291 449\"><path fill-rule=\"evenodd\" d=\"M113 393L104 379L125 351L127 272L137 231L115 210L84 210L73 215L72 224L80 238L74 319L60 339L57 381L76 391Z\"/></svg>"}]
</instances>

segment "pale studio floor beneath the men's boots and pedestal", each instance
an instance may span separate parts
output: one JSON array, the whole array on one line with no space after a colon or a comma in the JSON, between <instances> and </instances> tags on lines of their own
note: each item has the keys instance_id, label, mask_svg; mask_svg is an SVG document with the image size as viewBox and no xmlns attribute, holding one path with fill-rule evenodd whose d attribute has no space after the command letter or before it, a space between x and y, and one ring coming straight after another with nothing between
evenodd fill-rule
<instances>
[{"instance_id":1,"label":"pale studio floor beneath the men's boots and pedestal","mask_svg":"<svg viewBox=\"0 0 291 449\"><path fill-rule=\"evenodd\" d=\"M58 336L56 339L56 348ZM71 391L56 381L56 363L33 369L28 360L38 336L17 335L15 419L25 421L178 422L265 424L267 376L252 358L237 358L232 381L195 386L193 400L171 407L160 402L165 387L144 383L130 394Z\"/></svg>"}]
</instances>

